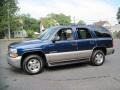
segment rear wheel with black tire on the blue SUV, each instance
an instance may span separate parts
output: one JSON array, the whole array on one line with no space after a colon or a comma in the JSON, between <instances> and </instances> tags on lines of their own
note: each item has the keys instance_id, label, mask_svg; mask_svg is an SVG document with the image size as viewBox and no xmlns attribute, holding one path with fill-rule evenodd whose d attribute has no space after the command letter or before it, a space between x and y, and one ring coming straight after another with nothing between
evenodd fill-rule
<instances>
[{"instance_id":1,"label":"rear wheel with black tire on the blue SUV","mask_svg":"<svg viewBox=\"0 0 120 90\"><path fill-rule=\"evenodd\" d=\"M97 58L99 56L99 58ZM101 57L101 58L100 58ZM95 50L91 56L90 62L94 66L100 66L105 61L105 54L102 50Z\"/></svg>"}]
</instances>

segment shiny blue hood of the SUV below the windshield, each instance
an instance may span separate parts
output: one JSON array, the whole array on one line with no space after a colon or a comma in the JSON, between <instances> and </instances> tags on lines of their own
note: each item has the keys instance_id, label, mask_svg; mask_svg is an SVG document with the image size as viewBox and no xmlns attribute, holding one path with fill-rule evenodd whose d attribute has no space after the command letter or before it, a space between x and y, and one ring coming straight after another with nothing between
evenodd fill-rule
<instances>
[{"instance_id":1,"label":"shiny blue hood of the SUV below the windshield","mask_svg":"<svg viewBox=\"0 0 120 90\"><path fill-rule=\"evenodd\" d=\"M11 43L8 47L9 48L19 48L19 47L33 47L36 45L43 45L46 41L41 41L39 39L36 40L28 40L28 41L22 41L22 42L14 42Z\"/></svg>"}]
</instances>

